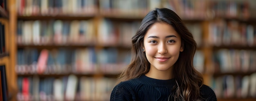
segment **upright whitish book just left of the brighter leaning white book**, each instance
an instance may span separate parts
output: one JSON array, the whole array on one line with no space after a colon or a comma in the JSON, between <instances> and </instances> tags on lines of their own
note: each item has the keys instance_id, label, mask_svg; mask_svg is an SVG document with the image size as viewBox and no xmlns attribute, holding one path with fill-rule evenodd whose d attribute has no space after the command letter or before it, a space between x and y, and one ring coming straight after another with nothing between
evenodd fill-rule
<instances>
[{"instance_id":1,"label":"upright whitish book just left of the brighter leaning white book","mask_svg":"<svg viewBox=\"0 0 256 101\"><path fill-rule=\"evenodd\" d=\"M55 101L63 101L64 99L63 82L60 79L54 80L53 95L54 95Z\"/></svg>"}]
</instances>

